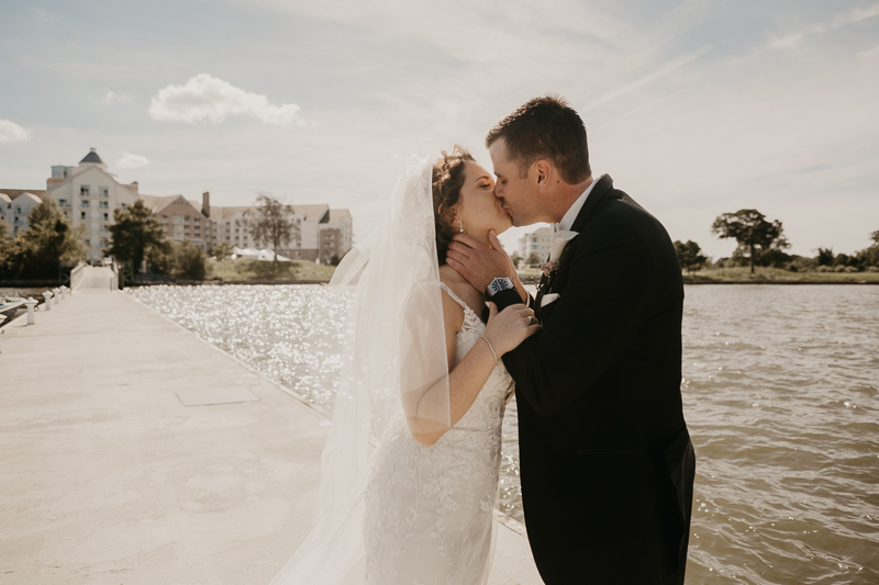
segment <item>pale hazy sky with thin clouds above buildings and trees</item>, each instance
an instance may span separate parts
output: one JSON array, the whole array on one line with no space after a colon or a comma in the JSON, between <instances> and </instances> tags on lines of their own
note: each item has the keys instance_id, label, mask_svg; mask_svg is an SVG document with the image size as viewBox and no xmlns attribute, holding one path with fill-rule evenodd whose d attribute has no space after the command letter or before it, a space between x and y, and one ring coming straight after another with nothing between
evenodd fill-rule
<instances>
[{"instance_id":1,"label":"pale hazy sky with thin clouds above buildings and trees","mask_svg":"<svg viewBox=\"0 0 879 585\"><path fill-rule=\"evenodd\" d=\"M491 169L486 131L550 92L593 172L714 258L741 209L803 256L879 229L876 0L3 0L0 188L94 147L142 193L329 203L359 241L412 154Z\"/></svg>"}]
</instances>

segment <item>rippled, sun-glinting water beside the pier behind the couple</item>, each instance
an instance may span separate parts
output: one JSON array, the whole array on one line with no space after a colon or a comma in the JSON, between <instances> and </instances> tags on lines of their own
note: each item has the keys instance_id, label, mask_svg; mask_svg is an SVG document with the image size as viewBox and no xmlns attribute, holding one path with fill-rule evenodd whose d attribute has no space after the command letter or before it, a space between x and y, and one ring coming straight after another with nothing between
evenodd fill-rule
<instances>
[{"instance_id":1,"label":"rippled, sun-glinting water beside the pier behind the couple","mask_svg":"<svg viewBox=\"0 0 879 585\"><path fill-rule=\"evenodd\" d=\"M129 292L332 407L334 291ZM687 583L879 583L879 286L688 286L683 341L698 458ZM515 439L513 401L499 507L521 520Z\"/></svg>"}]
</instances>

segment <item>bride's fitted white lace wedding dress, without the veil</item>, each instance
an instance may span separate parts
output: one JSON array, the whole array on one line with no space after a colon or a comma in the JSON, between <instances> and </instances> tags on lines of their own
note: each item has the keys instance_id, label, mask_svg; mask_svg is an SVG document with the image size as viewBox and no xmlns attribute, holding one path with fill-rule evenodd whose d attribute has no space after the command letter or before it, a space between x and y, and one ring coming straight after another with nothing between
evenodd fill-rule
<instances>
[{"instance_id":1,"label":"bride's fitted white lace wedding dress, without the veil","mask_svg":"<svg viewBox=\"0 0 879 585\"><path fill-rule=\"evenodd\" d=\"M464 307L455 365L486 326ZM498 494L501 426L513 380L499 363L470 409L426 447L403 418L376 453L365 495L366 582L370 585L479 585L488 581Z\"/></svg>"}]
</instances>

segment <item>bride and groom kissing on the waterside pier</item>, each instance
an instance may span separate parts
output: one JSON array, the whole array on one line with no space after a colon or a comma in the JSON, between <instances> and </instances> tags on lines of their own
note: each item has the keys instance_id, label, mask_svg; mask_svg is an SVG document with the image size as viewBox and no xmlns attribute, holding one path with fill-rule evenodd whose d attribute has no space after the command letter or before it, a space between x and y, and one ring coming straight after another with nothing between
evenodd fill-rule
<instances>
[{"instance_id":1,"label":"bride and groom kissing on the waterside pier","mask_svg":"<svg viewBox=\"0 0 879 585\"><path fill-rule=\"evenodd\" d=\"M696 469L683 284L663 225L593 178L586 127L533 99L486 137L413 158L340 265L349 295L315 526L274 585L489 580L501 426L548 585L682 584ZM497 239L554 224L532 296Z\"/></svg>"}]
</instances>

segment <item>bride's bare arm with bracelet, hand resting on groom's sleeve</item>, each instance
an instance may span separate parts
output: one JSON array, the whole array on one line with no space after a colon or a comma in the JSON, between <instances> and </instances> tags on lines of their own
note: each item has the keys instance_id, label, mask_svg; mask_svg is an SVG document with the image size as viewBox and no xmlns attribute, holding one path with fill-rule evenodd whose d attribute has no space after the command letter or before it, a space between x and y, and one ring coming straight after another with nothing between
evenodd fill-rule
<instances>
[{"instance_id":1,"label":"bride's bare arm with bracelet, hand resting on groom's sleeve","mask_svg":"<svg viewBox=\"0 0 879 585\"><path fill-rule=\"evenodd\" d=\"M486 327L486 337L491 341L494 353L500 360L501 356L507 351L516 347L523 339L537 331L537 325L530 325L527 320L528 315L533 315L533 311L525 305L514 305L503 311L501 314L497 313L494 305L491 305L489 323ZM448 408L449 408L449 425L455 426L460 420L467 410L470 409L482 386L488 381L491 372L497 365L494 355L491 352L488 342L480 338L467 352L464 359L453 368L455 362L455 352L457 350L456 334L460 329L464 322L464 310L460 305L455 303L443 291L443 317L445 320L446 333L446 355L448 359ZM422 404L429 407L437 396L432 396L434 393L445 392L441 384L438 387L429 391L422 398ZM412 436L416 441L423 445L433 445L439 437L446 434L447 428L442 430L416 432L414 428L416 425L410 424Z\"/></svg>"}]
</instances>

